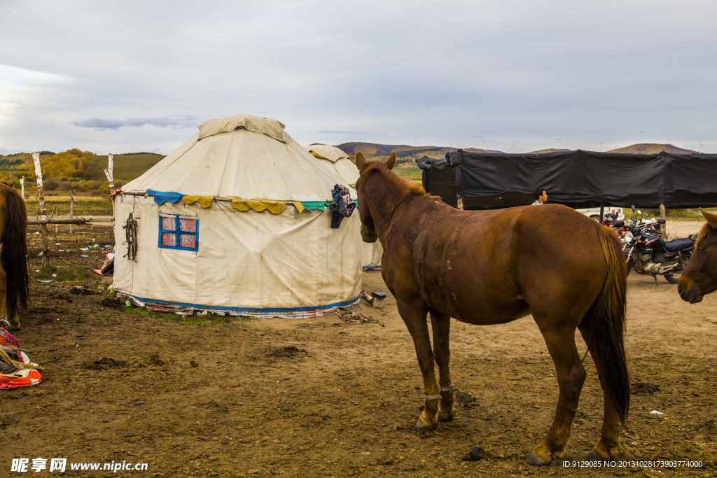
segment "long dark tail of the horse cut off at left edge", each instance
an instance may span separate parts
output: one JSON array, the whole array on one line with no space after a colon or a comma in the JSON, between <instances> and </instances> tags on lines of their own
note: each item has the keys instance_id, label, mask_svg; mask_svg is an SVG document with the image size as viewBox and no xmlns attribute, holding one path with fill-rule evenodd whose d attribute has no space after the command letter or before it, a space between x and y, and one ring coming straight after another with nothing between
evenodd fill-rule
<instances>
[{"instance_id":1,"label":"long dark tail of the horse cut off at left edge","mask_svg":"<svg viewBox=\"0 0 717 478\"><path fill-rule=\"evenodd\" d=\"M3 185L4 186L4 185ZM0 265L7 276L7 316L27 310L27 208L25 200L15 188L5 186L5 224L0 237L2 252Z\"/></svg>"}]
</instances>

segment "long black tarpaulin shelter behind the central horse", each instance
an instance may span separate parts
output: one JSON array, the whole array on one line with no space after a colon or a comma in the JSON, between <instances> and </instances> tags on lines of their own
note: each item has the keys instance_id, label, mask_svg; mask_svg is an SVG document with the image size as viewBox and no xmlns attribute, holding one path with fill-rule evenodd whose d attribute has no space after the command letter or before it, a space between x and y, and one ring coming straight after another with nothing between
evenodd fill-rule
<instances>
[{"instance_id":1,"label":"long black tarpaulin shelter behind the central horse","mask_svg":"<svg viewBox=\"0 0 717 478\"><path fill-rule=\"evenodd\" d=\"M440 175L442 188L448 192L447 178L452 176L455 192L464 203L501 199L497 206L484 207L530 204L538 189L548 191L550 202L572 207L717 206L717 154L646 155L583 150L508 154L457 150L447 153L444 163L437 161L440 160L417 161L429 193L443 197L443 191L432 189L432 184Z\"/></svg>"}]
</instances>

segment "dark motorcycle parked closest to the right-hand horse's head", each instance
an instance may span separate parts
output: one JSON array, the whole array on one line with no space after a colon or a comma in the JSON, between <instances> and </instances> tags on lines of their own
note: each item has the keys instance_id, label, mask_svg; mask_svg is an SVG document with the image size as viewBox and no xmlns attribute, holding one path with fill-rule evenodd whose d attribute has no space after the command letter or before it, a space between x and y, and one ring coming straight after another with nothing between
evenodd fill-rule
<instances>
[{"instance_id":1,"label":"dark motorcycle parked closest to the right-hand horse's head","mask_svg":"<svg viewBox=\"0 0 717 478\"><path fill-rule=\"evenodd\" d=\"M635 206L632 206L632 211L635 211ZM665 224L665 219L660 218L625 225L622 250L627 257L627 274L635 269L637 274L651 275L655 280L661 275L670 284L677 284L692 257L695 241L687 237L663 241L657 229L662 224Z\"/></svg>"}]
</instances>

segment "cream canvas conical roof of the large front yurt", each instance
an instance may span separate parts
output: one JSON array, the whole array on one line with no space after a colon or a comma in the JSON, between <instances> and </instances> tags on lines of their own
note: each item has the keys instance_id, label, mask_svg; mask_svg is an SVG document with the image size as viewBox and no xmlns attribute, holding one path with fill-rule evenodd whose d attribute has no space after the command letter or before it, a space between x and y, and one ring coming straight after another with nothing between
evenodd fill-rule
<instances>
[{"instance_id":1,"label":"cream canvas conical roof of the large front yurt","mask_svg":"<svg viewBox=\"0 0 717 478\"><path fill-rule=\"evenodd\" d=\"M206 121L198 133L122 191L331 201L336 183L341 183L336 171L291 138L280 121L236 115Z\"/></svg>"}]
</instances>

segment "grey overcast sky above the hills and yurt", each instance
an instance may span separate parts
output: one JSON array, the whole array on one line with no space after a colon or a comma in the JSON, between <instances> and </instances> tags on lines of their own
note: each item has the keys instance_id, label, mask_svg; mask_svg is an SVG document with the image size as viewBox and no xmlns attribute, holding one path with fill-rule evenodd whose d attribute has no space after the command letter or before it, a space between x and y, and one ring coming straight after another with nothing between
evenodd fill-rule
<instances>
[{"instance_id":1,"label":"grey overcast sky above the hills and yurt","mask_svg":"<svg viewBox=\"0 0 717 478\"><path fill-rule=\"evenodd\" d=\"M166 154L239 113L302 144L717 153L714 0L0 0L0 20L0 154Z\"/></svg>"}]
</instances>

